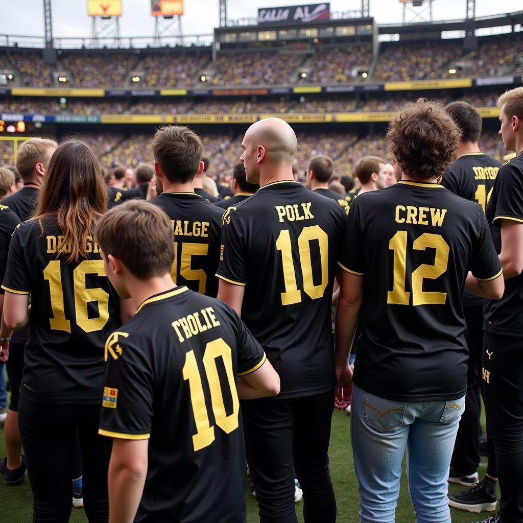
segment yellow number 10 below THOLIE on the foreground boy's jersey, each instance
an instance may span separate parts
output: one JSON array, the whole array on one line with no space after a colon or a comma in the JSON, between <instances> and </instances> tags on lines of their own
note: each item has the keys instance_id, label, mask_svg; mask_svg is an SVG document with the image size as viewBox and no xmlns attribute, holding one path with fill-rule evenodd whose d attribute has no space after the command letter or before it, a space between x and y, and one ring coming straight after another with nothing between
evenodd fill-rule
<instances>
[{"instance_id":1,"label":"yellow number 10 below THOLIE on the foreground boy's jersey","mask_svg":"<svg viewBox=\"0 0 523 523\"><path fill-rule=\"evenodd\" d=\"M227 383L229 388L226 393L232 397L232 412L227 415L223 402L222 385L218 376L216 360L222 359ZM226 433L230 434L238 428L238 413L240 412L240 400L236 390L236 377L232 368L232 351L222 338L218 338L206 345L202 358L203 370L207 377L211 393L211 407L215 423ZM214 441L214 426L209 423L209 412L203 393L201 373L194 350L185 354L185 365L182 369L184 380L189 382L189 392L194 415L196 434L192 436L194 451L208 447Z\"/></svg>"}]
</instances>

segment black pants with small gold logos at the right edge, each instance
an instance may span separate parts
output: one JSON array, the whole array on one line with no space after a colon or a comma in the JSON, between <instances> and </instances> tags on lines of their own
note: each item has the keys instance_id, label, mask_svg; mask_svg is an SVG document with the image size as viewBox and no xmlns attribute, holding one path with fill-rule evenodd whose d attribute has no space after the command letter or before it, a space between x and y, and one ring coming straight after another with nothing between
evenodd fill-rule
<instances>
[{"instance_id":1,"label":"black pants with small gold logos at the right edge","mask_svg":"<svg viewBox=\"0 0 523 523\"><path fill-rule=\"evenodd\" d=\"M523 337L484 333L483 394L503 523L523 522Z\"/></svg>"}]
</instances>

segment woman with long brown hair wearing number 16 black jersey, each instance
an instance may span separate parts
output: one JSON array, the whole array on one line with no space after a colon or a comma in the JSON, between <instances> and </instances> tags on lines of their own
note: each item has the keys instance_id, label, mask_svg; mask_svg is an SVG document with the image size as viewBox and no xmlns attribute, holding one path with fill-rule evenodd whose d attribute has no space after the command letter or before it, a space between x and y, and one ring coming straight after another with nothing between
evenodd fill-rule
<instances>
[{"instance_id":1,"label":"woman with long brown hair wearing number 16 black jersey","mask_svg":"<svg viewBox=\"0 0 523 523\"><path fill-rule=\"evenodd\" d=\"M108 519L111 449L98 421L104 344L121 322L93 235L106 206L95 155L81 141L66 141L51 157L35 215L15 231L9 249L4 321L13 330L31 327L19 425L35 522L69 521L76 433L87 517Z\"/></svg>"}]
</instances>

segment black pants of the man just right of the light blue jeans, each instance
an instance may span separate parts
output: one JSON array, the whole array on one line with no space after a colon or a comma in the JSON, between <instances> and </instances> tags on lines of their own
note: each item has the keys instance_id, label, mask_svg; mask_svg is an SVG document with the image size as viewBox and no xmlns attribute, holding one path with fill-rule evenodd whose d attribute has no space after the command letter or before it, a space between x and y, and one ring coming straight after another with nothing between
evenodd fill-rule
<instances>
[{"instance_id":1,"label":"black pants of the man just right of the light blue jeans","mask_svg":"<svg viewBox=\"0 0 523 523\"><path fill-rule=\"evenodd\" d=\"M467 372L467 408L461 416L451 468L459 474L474 474L479 467L480 456L480 415L481 415L481 353L483 347L483 305L463 307L467 322L467 345L469 367Z\"/></svg>"}]
</instances>

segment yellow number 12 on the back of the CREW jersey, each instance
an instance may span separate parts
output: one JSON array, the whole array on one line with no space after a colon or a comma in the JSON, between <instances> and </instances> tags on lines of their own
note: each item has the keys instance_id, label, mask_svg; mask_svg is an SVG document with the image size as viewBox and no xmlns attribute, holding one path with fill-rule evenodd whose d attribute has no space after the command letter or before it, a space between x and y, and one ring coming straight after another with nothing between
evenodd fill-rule
<instances>
[{"instance_id":1,"label":"yellow number 12 on the back of the CREW jersey","mask_svg":"<svg viewBox=\"0 0 523 523\"><path fill-rule=\"evenodd\" d=\"M434 249L434 264L422 264L412 272L411 289L413 305L440 304L447 301L446 292L425 292L423 280L435 280L447 270L449 260L449 246L441 234L423 233L414 240L413 248L416 251ZM405 290L406 262L407 262L407 231L397 231L389 242L389 249L394 252L394 271L392 291L387 292L387 303L394 305L408 305L411 293Z\"/></svg>"}]
</instances>

